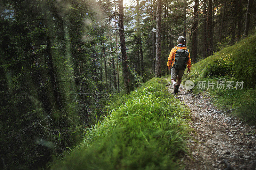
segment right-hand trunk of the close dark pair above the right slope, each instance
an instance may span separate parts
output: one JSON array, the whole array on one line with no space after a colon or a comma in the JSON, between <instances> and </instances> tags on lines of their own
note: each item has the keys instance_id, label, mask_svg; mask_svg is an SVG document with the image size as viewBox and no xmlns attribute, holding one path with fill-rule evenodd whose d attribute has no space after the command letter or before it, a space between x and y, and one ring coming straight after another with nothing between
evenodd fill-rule
<instances>
[{"instance_id":1,"label":"right-hand trunk of the close dark pair above the right slope","mask_svg":"<svg viewBox=\"0 0 256 170\"><path fill-rule=\"evenodd\" d=\"M212 55L212 0L208 0L208 56Z\"/></svg>"}]
</instances>

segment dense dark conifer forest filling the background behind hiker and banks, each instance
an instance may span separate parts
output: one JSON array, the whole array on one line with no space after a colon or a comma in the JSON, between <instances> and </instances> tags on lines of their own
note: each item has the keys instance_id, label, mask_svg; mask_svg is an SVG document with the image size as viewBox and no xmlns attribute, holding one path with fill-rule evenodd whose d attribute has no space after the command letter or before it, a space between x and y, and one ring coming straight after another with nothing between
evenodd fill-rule
<instances>
[{"instance_id":1,"label":"dense dark conifer forest filling the background behind hiker and banks","mask_svg":"<svg viewBox=\"0 0 256 170\"><path fill-rule=\"evenodd\" d=\"M196 63L256 23L253 0L3 0L0 11L1 168L44 167L79 144L109 95L170 74L179 36Z\"/></svg>"}]
</instances>

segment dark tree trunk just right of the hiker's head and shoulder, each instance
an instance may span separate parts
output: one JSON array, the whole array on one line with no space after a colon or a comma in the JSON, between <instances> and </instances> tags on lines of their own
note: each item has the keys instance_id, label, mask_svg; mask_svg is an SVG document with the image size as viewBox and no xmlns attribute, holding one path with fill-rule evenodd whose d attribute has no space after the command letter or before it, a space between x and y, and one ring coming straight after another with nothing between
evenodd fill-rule
<instances>
[{"instance_id":1,"label":"dark tree trunk just right of the hiker's head and shoulder","mask_svg":"<svg viewBox=\"0 0 256 170\"><path fill-rule=\"evenodd\" d=\"M192 36L192 55L191 55L191 60L194 63L196 62L196 56L197 56L198 7L199 7L199 0L195 0L194 22L192 26L193 36Z\"/></svg>"}]
</instances>

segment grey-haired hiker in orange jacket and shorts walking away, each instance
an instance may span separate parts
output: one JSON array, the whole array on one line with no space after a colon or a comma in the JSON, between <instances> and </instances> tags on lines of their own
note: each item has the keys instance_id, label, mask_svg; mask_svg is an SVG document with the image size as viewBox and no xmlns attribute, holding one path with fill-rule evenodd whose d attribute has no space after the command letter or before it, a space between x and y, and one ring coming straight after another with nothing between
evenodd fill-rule
<instances>
[{"instance_id":1,"label":"grey-haired hiker in orange jacket and shorts walking away","mask_svg":"<svg viewBox=\"0 0 256 170\"><path fill-rule=\"evenodd\" d=\"M190 73L191 69L190 54L188 48L184 45L184 37L180 36L177 42L178 45L172 48L167 61L168 69L171 69L172 66L171 80L175 94L179 92L178 88L180 87L181 78L186 69L186 65L188 64L188 73Z\"/></svg>"}]
</instances>

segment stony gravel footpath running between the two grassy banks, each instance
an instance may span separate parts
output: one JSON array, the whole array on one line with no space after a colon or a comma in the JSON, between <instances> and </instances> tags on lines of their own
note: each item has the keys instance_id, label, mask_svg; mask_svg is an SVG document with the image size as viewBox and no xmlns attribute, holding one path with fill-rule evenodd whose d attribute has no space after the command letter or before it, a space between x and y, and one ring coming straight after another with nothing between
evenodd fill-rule
<instances>
[{"instance_id":1,"label":"stony gravel footpath running between the two grassy banks","mask_svg":"<svg viewBox=\"0 0 256 170\"><path fill-rule=\"evenodd\" d=\"M191 110L190 135L195 140L188 141L192 157L182 159L185 169L256 169L254 126L219 110L206 92L192 94L180 85L174 94L173 85L167 88Z\"/></svg>"}]
</instances>

